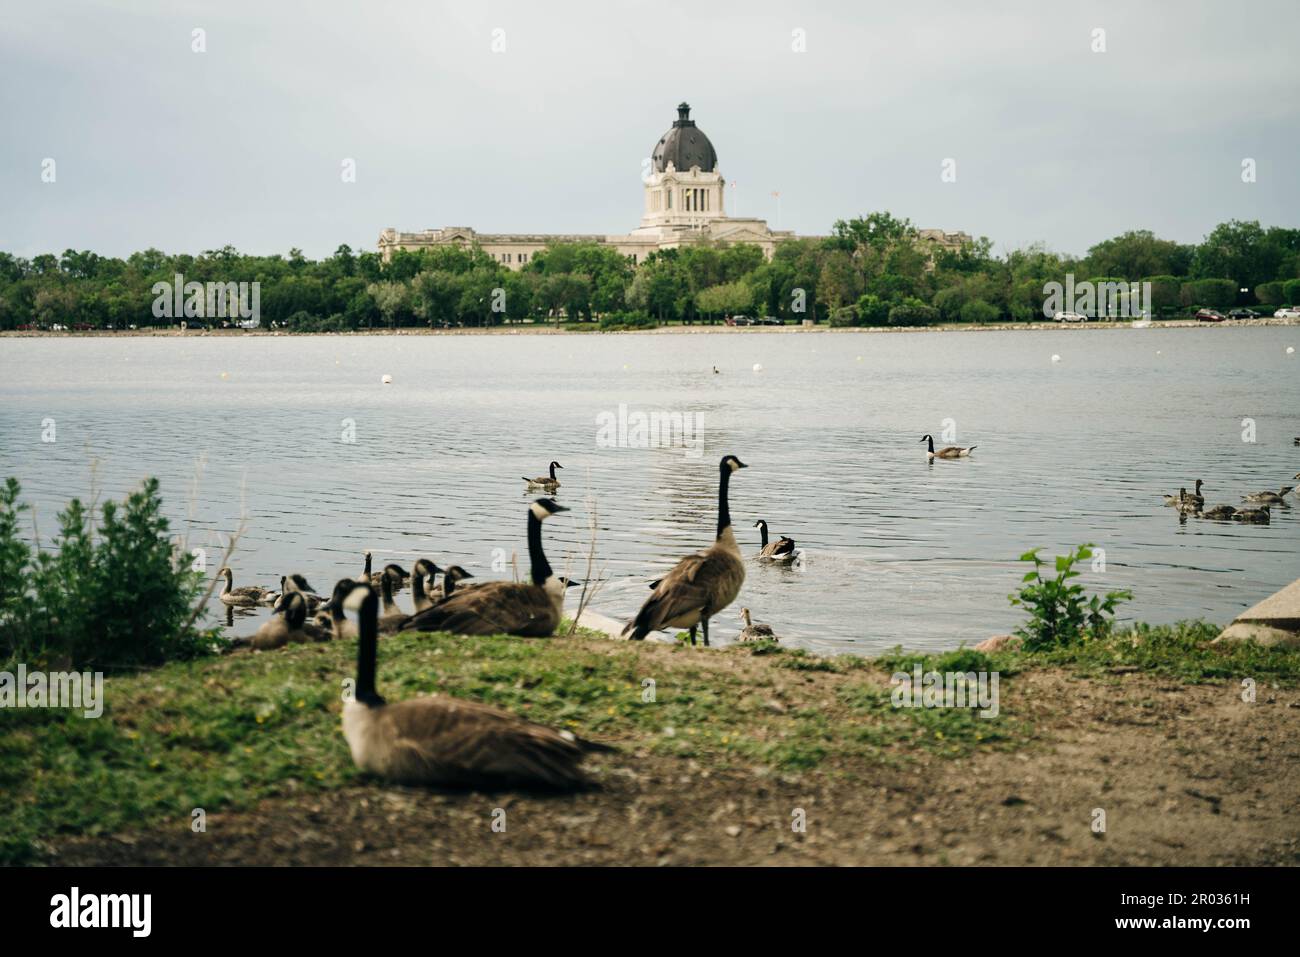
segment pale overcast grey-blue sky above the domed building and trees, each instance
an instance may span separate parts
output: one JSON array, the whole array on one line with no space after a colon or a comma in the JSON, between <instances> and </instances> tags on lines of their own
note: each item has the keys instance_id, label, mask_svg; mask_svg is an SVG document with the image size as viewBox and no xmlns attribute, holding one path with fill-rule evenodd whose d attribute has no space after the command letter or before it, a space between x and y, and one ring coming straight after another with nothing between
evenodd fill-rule
<instances>
[{"instance_id":1,"label":"pale overcast grey-blue sky above the domed building and trees","mask_svg":"<svg viewBox=\"0 0 1300 957\"><path fill-rule=\"evenodd\" d=\"M887 209L1080 255L1300 225L1296 0L3 0L0 25L0 250L27 257L621 234L681 100L729 212L800 234Z\"/></svg>"}]
</instances>

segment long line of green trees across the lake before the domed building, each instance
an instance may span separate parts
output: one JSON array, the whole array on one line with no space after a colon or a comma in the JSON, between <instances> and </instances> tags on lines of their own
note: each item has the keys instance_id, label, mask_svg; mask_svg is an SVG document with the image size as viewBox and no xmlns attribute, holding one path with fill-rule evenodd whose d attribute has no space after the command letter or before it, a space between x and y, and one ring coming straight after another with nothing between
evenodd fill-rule
<instances>
[{"instance_id":1,"label":"long line of green trees across the lake before the domed building","mask_svg":"<svg viewBox=\"0 0 1300 957\"><path fill-rule=\"evenodd\" d=\"M517 272L467 246L398 251L387 263L348 246L320 260L296 248L252 256L230 246L126 259L0 252L0 329L174 325L183 316L160 317L155 303L177 276L257 282L263 325L300 332L520 321L634 328L741 313L833 325L1034 321L1043 319L1045 283L1066 276L1150 282L1160 317L1300 303L1300 229L1234 220L1193 244L1131 230L1082 257L1043 244L994 255L988 238L944 248L907 220L876 212L837 221L828 237L784 242L770 260L755 246L699 242L634 264L608 246L558 243Z\"/></svg>"}]
</instances>

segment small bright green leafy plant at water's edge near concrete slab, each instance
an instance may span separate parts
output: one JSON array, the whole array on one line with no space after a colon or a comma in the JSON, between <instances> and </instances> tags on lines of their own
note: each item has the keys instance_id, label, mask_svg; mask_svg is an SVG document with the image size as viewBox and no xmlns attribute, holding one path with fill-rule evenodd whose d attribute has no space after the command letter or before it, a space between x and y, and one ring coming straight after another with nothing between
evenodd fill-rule
<instances>
[{"instance_id":1,"label":"small bright green leafy plant at water's edge near concrete slab","mask_svg":"<svg viewBox=\"0 0 1300 957\"><path fill-rule=\"evenodd\" d=\"M1086 596L1083 585L1074 583L1080 575L1074 566L1089 558L1092 545L1080 545L1067 555L1057 555L1056 577L1044 577L1046 562L1039 558L1037 549L1020 555L1022 562L1034 562L1034 571L1020 580L1020 590L1008 598L1011 605L1023 605L1030 612L1030 620L1015 629L1024 641L1026 651L1045 651L1110 635L1115 609L1121 602L1132 599L1132 592Z\"/></svg>"}]
</instances>

